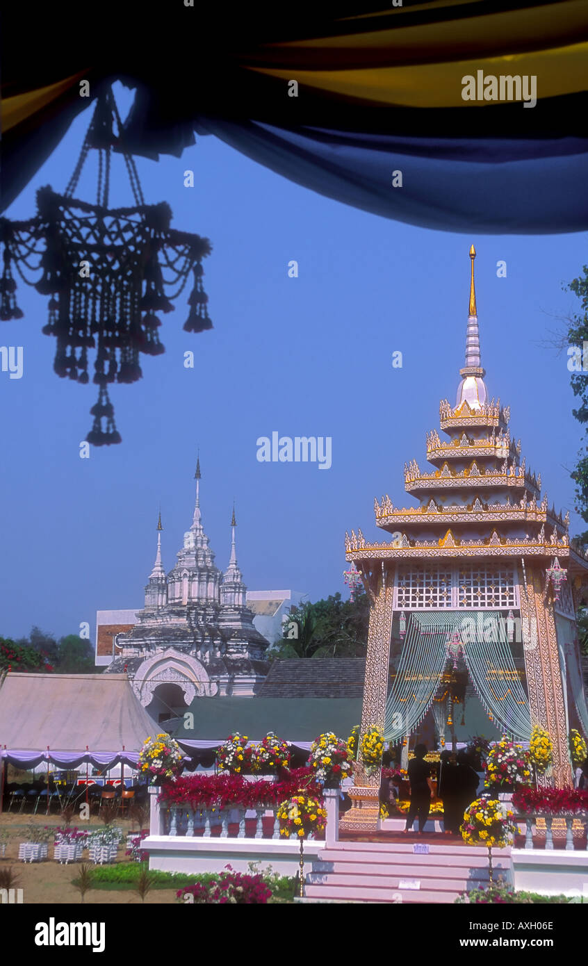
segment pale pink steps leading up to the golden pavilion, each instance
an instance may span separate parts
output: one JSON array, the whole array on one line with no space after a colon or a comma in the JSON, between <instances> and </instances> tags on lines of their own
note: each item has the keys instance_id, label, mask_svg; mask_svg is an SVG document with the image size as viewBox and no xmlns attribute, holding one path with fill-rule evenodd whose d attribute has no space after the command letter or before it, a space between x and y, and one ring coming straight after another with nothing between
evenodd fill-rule
<instances>
[{"instance_id":1,"label":"pale pink steps leading up to the golden pavilion","mask_svg":"<svg viewBox=\"0 0 588 966\"><path fill-rule=\"evenodd\" d=\"M416 852L415 852L416 848ZM306 878L309 899L360 902L453 902L489 881L484 847L412 842L339 841L325 847ZM511 878L511 850L492 853L494 879Z\"/></svg>"}]
</instances>

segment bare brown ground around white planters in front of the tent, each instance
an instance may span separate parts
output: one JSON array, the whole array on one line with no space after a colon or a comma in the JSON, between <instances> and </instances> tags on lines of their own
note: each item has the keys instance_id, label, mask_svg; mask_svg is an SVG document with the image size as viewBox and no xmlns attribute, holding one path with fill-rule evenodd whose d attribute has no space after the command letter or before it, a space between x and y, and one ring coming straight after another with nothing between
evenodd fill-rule
<instances>
[{"instance_id":1,"label":"bare brown ground around white planters in front of the tent","mask_svg":"<svg viewBox=\"0 0 588 966\"><path fill-rule=\"evenodd\" d=\"M128 859L125 856L126 832L131 828L131 823L128 819L122 818L116 819L115 821L125 831L125 836L119 848L117 862L127 862ZM19 815L11 812L3 812L0 814L0 831L8 829L11 835L6 849L6 858L0 859L0 870L6 867L13 867L18 877L14 888L22 889L23 902L26 904L49 903L51 905L60 905L64 903L80 903L81 896L77 889L71 885L71 880L76 878L81 863L75 862L69 863L67 866L62 866L50 858L53 855L52 839L49 840L49 859L45 862L28 863L18 861L18 845L21 841L25 840L25 828L31 822L34 822L35 825L49 825L55 828L65 824L64 820L56 814L30 815L25 813ZM89 822L72 821L71 824L77 824L78 828L85 829L87 827L100 827L102 822L93 815ZM136 826L134 826L134 829L136 830ZM86 855L87 853L85 853L84 859L82 860L84 862L88 862ZM175 900L176 890L174 888L154 889L146 895L145 904L169 904L174 903ZM131 890L91 889L84 897L85 905L132 905L137 902L141 903L141 899Z\"/></svg>"}]
</instances>

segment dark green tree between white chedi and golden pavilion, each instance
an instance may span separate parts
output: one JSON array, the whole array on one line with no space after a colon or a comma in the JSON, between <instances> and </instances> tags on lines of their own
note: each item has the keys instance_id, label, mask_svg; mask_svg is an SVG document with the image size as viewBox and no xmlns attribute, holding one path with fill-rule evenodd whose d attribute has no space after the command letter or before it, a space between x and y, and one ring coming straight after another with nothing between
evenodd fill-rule
<instances>
[{"instance_id":1,"label":"dark green tree between white chedi and golden pavilion","mask_svg":"<svg viewBox=\"0 0 588 966\"><path fill-rule=\"evenodd\" d=\"M370 606L367 595L342 601L330 595L315 604L306 603L291 611L284 636L268 651L270 659L340 658L365 654Z\"/></svg>"}]
</instances>

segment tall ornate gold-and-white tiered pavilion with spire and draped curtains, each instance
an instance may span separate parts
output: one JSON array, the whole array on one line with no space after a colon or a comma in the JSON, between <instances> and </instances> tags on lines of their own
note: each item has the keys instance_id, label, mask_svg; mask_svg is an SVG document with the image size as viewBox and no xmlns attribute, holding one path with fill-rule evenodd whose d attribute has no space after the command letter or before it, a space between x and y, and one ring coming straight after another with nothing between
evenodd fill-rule
<instances>
[{"instance_id":1,"label":"tall ornate gold-and-white tiered pavilion with spire and draped curtains","mask_svg":"<svg viewBox=\"0 0 588 966\"><path fill-rule=\"evenodd\" d=\"M588 737L575 613L588 590L588 561L541 493L511 438L510 409L489 398L480 357L474 246L465 364L456 405L443 400L440 430L427 435L432 470L405 465L415 507L375 499L376 525L391 539L346 533L346 555L371 603L361 734L407 740L427 714L439 734L442 681L453 659L467 671L499 732L528 740L533 725L553 742L544 781L571 784L568 734ZM444 678L445 675L445 678ZM442 709L441 709L442 710ZM378 772L355 774L344 825L378 819Z\"/></svg>"}]
</instances>

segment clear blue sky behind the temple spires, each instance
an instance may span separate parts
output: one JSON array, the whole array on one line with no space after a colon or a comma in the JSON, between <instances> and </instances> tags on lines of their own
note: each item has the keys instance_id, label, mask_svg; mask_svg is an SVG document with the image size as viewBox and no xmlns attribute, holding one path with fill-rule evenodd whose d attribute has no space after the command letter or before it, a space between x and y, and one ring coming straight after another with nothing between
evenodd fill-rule
<instances>
[{"instance_id":1,"label":"clear blue sky behind the temple spires","mask_svg":"<svg viewBox=\"0 0 588 966\"><path fill-rule=\"evenodd\" d=\"M116 93L124 115L129 92ZM65 189L89 121L88 111L76 119L8 217L33 215L41 185ZM121 445L79 458L96 387L53 373L55 340L41 332L48 299L18 280L25 318L3 323L0 336L24 352L20 380L0 372L0 636L32 624L61 636L82 621L94 635L97 610L140 608L159 504L166 569L190 525L198 447L216 563L226 569L235 498L249 589L293 588L311 600L343 592L345 530L378 536L375 496L412 505L405 461L426 466L439 400L455 403L472 241L490 396L510 404L511 432L549 501L573 511L580 429L567 356L546 340L562 327L556 317L577 308L562 285L586 261L583 235L413 228L291 184L213 137L197 140L180 159L137 166L146 200L168 201L174 227L212 242L205 288L214 328L182 330L188 286L163 317L165 355L142 356L143 380L112 388ZM188 168L194 188L183 186ZM90 156L77 197L95 199L96 175ZM111 204L131 203L115 156ZM288 277L291 260L297 278ZM496 275L499 260L506 278ZM402 369L392 367L395 351ZM256 440L272 431L331 437L331 469L258 462ZM572 513L572 532L584 528Z\"/></svg>"}]
</instances>

